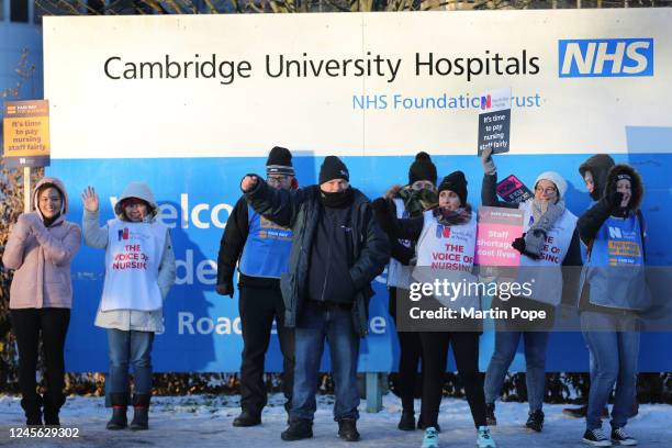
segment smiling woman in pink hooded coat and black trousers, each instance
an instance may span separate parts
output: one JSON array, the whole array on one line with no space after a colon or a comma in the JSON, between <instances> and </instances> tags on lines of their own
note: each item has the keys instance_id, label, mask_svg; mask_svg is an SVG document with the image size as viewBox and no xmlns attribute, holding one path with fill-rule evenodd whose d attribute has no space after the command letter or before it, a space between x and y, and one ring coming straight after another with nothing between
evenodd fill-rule
<instances>
[{"instance_id":1,"label":"smiling woman in pink hooded coat and black trousers","mask_svg":"<svg viewBox=\"0 0 672 448\"><path fill-rule=\"evenodd\" d=\"M26 425L58 426L63 394L64 346L72 285L70 260L79 250L81 231L65 220L68 198L63 182L43 178L33 190L32 211L22 213L7 243L2 262L15 269L10 316L19 346L19 387ZM40 337L44 347L46 392L36 391Z\"/></svg>"}]
</instances>

